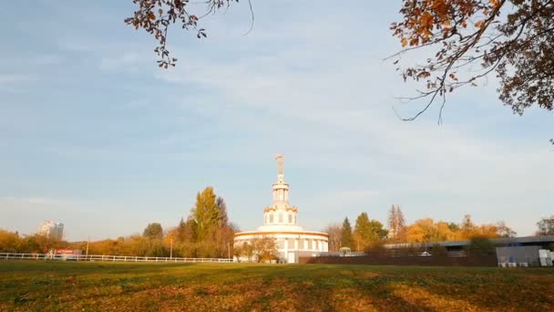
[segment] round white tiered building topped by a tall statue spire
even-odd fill
[[[277,241],[279,258],[286,263],[298,263],[299,256],[313,256],[329,250],[329,235],[304,231],[297,225],[298,208],[289,204],[289,184],[282,174],[282,155],[275,158],[279,163],[277,182],[273,183],[273,203],[263,209],[263,225],[258,231],[235,234],[234,244],[250,243],[254,238],[272,237]],[[248,260],[241,256],[242,260]]]

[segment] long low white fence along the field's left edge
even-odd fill
[[[175,263],[231,263],[229,258],[177,258],[169,256],[130,255],[51,255],[0,253],[0,260],[61,260],[61,261],[111,261],[111,262],[175,262]]]

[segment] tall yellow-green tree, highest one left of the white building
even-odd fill
[[[196,203],[190,211],[190,217],[195,223],[193,229],[197,242],[211,238],[211,234],[221,226],[221,213],[215,199],[216,195],[211,186],[196,195]]]

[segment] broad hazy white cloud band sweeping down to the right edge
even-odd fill
[[[360,192],[351,182],[350,191],[304,197],[310,208],[303,218],[313,220],[318,215],[314,207],[336,211],[347,198],[353,212],[379,209],[373,214],[385,221],[385,210],[401,199],[412,220],[434,216],[458,221],[472,213],[487,222],[513,221],[510,225],[520,234],[531,234],[535,224],[529,220],[539,216],[518,222],[517,215],[526,208],[545,211],[554,202],[547,173],[553,168],[551,155],[540,147],[518,151],[509,140],[484,137],[471,129],[473,120],[467,126],[442,127],[434,116],[430,122],[425,116],[399,121],[391,107],[406,86],[395,75],[390,65],[363,51],[337,57],[334,49],[301,45],[227,61],[194,58],[157,78],[210,90],[209,96],[188,95],[184,102],[202,103],[202,111],[232,129],[265,138],[255,146],[235,146],[228,158],[252,159],[285,149],[301,158],[292,159],[296,166],[355,172],[374,184]],[[494,92],[480,94],[496,100]],[[460,99],[471,100],[464,93]],[[456,104],[456,98],[449,103]],[[370,203],[377,207],[362,206]]]

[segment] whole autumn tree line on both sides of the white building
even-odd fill
[[[536,235],[554,235],[554,215],[537,223]],[[93,242],[67,242],[45,235],[22,235],[0,229],[0,252],[45,253],[54,249],[80,249],[89,255],[175,256],[175,257],[231,257],[274,259],[277,246],[274,239],[259,237],[251,244],[233,246],[233,237],[239,229],[227,214],[227,205],[212,187],[198,192],[189,216],[181,218],[177,226],[164,231],[161,224],[151,223],[142,234]],[[362,252],[381,244],[434,243],[440,241],[478,240],[511,237],[516,233],[504,222],[475,224],[469,214],[460,223],[435,221],[432,218],[405,223],[400,206],[393,205],[388,213],[386,227],[360,213],[354,228],[348,217],[343,224],[329,224],[323,229],[329,234],[329,250],[349,247]]]

